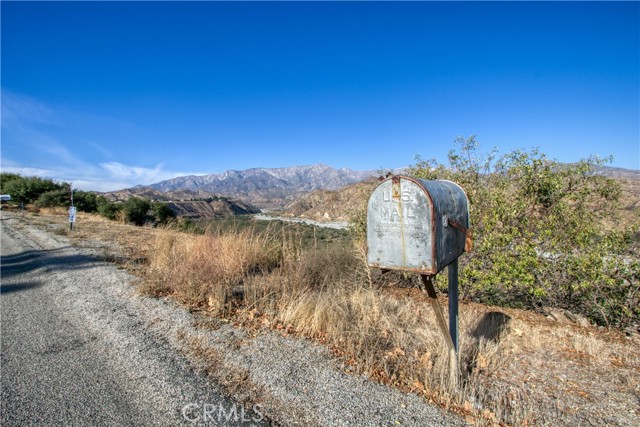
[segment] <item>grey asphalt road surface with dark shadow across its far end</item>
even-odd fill
[[[247,411],[243,420],[241,405],[137,317],[124,272],[19,222],[3,213],[0,424],[194,425],[206,418],[207,425],[252,425],[261,418]]]

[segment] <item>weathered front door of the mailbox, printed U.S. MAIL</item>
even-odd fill
[[[419,180],[382,181],[367,204],[367,261],[373,267],[435,274],[433,205]]]

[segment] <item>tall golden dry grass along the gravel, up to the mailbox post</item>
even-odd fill
[[[472,390],[472,373],[493,368],[503,357],[501,318],[463,317],[465,381],[462,390],[453,390],[446,343],[431,307],[370,286],[355,248],[302,250],[294,236],[251,229],[202,236],[162,230],[149,259],[148,292],[173,295],[215,315],[266,318],[271,326],[329,345],[350,371],[447,406],[464,408],[466,398],[477,400],[481,393]],[[477,412],[477,406],[468,411]],[[501,416],[513,418],[511,412]]]

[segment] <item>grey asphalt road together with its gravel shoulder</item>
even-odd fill
[[[464,425],[345,374],[318,344],[207,326],[139,295],[137,279],[95,250],[1,215],[3,425],[251,425],[263,415],[292,426]],[[239,408],[250,413],[225,417]]]

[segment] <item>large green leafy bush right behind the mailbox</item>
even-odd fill
[[[620,185],[596,173],[610,161],[574,164],[534,149],[478,153],[457,141],[448,165],[417,159],[409,174],[449,179],[470,201],[474,250],[461,258],[460,286],[472,300],[520,308],[566,308],[598,324],[640,319],[638,224],[616,220]]]

